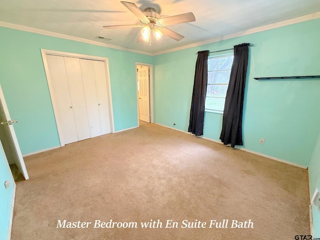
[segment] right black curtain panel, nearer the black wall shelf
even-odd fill
[[[226,91],[220,139],[223,144],[243,145],[242,109],[249,43],[234,46],[229,86]]]

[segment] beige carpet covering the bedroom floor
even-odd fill
[[[71,143],[25,163],[30,179],[16,185],[12,240],[273,240],[310,232],[307,170],[156,124]],[[94,228],[95,220],[110,219],[122,228]],[[141,227],[151,219],[162,228]],[[227,228],[209,228],[223,219]],[[249,219],[253,228],[231,228],[232,220]],[[91,224],[56,228],[57,220]],[[167,220],[178,228],[165,228]],[[186,221],[206,225],[182,228]],[[137,228],[123,228],[134,226],[125,222]]]

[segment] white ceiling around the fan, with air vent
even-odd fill
[[[130,1],[130,0],[128,0]],[[195,22],[167,28],[185,37],[175,41],[163,36],[159,41],[137,43],[141,28],[104,29],[103,25],[139,24],[120,0],[2,0],[0,21],[46,31],[95,39],[111,38],[108,44],[156,53],[175,47],[251,29],[258,26],[320,11],[319,0],[134,0],[140,9],[160,8],[162,17],[193,12]]]

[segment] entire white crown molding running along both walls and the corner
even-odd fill
[[[303,15],[303,16],[299,16],[299,17],[290,18],[290,19],[283,20],[283,21],[278,21],[278,22],[267,24],[264,26],[251,28],[251,29],[244,30],[244,31],[235,32],[235,33],[224,35],[224,36],[211,38],[211,39],[208,39],[205,41],[199,41],[199,42],[187,44],[187,45],[180,46],[180,47],[171,48],[171,49],[164,50],[164,51],[158,51],[155,53],[139,51],[139,50],[135,50],[132,48],[117,46],[117,45],[103,43],[103,42],[97,42],[97,41],[93,41],[93,40],[84,39],[81,37],[69,36],[69,35],[65,35],[65,34],[61,34],[61,33],[41,30],[41,29],[37,29],[37,28],[33,28],[33,27],[22,26],[22,25],[8,23],[8,22],[4,22],[4,21],[0,21],[0,26],[12,28],[12,29],[17,29],[17,30],[22,30],[22,31],[28,31],[28,32],[32,32],[32,33],[38,33],[38,34],[47,35],[47,36],[59,37],[59,38],[67,39],[67,40],[84,42],[84,43],[98,45],[98,46],[114,48],[114,49],[118,49],[118,50],[140,53],[140,54],[149,55],[149,56],[155,56],[155,55],[160,55],[160,54],[164,54],[164,53],[168,53],[168,52],[172,52],[172,51],[178,51],[178,50],[183,50],[186,48],[191,48],[191,47],[209,44],[209,43],[213,43],[213,42],[217,42],[217,41],[222,41],[222,40],[226,40],[226,39],[230,39],[230,38],[234,38],[234,37],[238,37],[238,36],[244,36],[244,35],[260,32],[260,31],[266,31],[266,30],[270,30],[270,29],[274,29],[274,28],[278,28],[278,27],[282,27],[282,26],[287,26],[287,25],[291,25],[291,24],[299,23],[299,22],[303,22],[303,21],[308,21],[308,20],[312,20],[312,19],[316,19],[316,18],[320,18],[320,11],[310,13],[307,15]]]

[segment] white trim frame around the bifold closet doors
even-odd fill
[[[92,56],[92,55],[85,55],[85,54],[80,54],[80,53],[56,51],[56,50],[42,49],[42,48],[41,48],[41,55],[42,55],[46,80],[47,80],[48,87],[49,87],[49,93],[50,93],[50,97],[51,97],[53,113],[54,113],[56,127],[57,127],[57,131],[58,131],[58,135],[59,135],[60,145],[64,146],[65,142],[64,142],[64,138],[63,138],[63,132],[62,132],[61,122],[60,122],[60,118],[59,118],[59,112],[58,112],[57,104],[55,102],[52,79],[50,76],[50,70],[49,70],[49,65],[47,62],[46,55],[66,56],[66,57],[75,57],[75,58],[84,58],[84,59],[89,59],[89,60],[104,61],[105,75],[107,78],[106,79],[106,88],[107,88],[107,92],[108,92],[111,133],[113,133],[114,132],[114,119],[113,119],[113,109],[112,109],[112,97],[111,97],[111,85],[110,85],[110,73],[109,73],[109,60],[108,60],[108,58],[102,57],[102,56]]]

